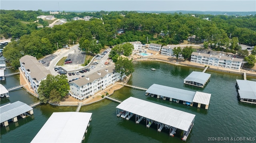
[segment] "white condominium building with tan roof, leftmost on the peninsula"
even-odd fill
[[[39,63],[36,57],[30,55],[20,58],[20,69],[30,83],[30,88],[34,90],[35,94],[38,94],[37,91],[40,82],[46,79],[50,71],[42,63]]]

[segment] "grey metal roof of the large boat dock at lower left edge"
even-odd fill
[[[16,101],[14,103],[1,106],[0,123],[7,121],[8,119],[12,119],[16,116],[19,116],[20,114],[26,113],[30,110],[33,110],[33,108],[20,101]]]

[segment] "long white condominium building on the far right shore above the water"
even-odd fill
[[[191,54],[190,62],[234,70],[239,70],[241,68],[243,59],[227,57],[226,55],[223,55],[212,55],[206,53],[193,52]]]

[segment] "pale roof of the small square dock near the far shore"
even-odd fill
[[[208,73],[193,71],[184,80],[204,84],[210,76],[211,74]]]

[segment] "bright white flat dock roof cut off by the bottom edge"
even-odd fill
[[[31,143],[81,143],[92,113],[54,112]]]

